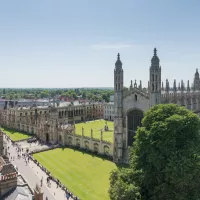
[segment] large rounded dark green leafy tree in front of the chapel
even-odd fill
[[[200,199],[199,130],[200,118],[184,107],[151,108],[137,129],[130,155],[131,181],[125,178],[124,184],[138,187],[143,200]]]

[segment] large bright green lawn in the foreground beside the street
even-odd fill
[[[117,166],[69,148],[33,154],[41,165],[83,200],[108,200],[109,176]]]

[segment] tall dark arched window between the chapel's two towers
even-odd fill
[[[127,113],[127,143],[128,146],[132,146],[134,141],[135,132],[137,130],[137,127],[141,126],[141,121],[144,114],[143,111],[139,109],[131,109]]]

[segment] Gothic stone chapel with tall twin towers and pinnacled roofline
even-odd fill
[[[177,88],[176,80],[170,88],[168,79],[164,88],[161,85],[161,66],[154,48],[154,55],[149,68],[148,88],[142,87],[135,80],[131,80],[129,88],[124,87],[124,72],[120,55],[114,69],[114,145],[113,158],[115,162],[128,163],[128,147],[133,144],[133,136],[137,127],[141,125],[144,112],[150,107],[160,103],[175,103],[185,106],[200,114],[200,78],[198,70],[194,76],[193,86],[190,88],[189,81],[185,87],[183,80]]]

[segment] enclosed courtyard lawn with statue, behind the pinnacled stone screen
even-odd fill
[[[104,126],[107,122],[109,131],[104,131]],[[76,134],[82,134],[82,127],[84,128],[84,135],[90,137],[91,128],[93,129],[93,137],[100,139],[101,129],[103,129],[103,140],[113,142],[113,130],[114,130],[114,123],[111,121],[105,120],[96,120],[90,121],[86,123],[78,123],[75,125],[76,127]]]

